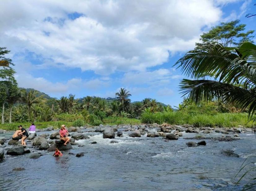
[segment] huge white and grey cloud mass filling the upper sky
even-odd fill
[[[68,19],[73,12],[84,16]],[[0,43],[101,75],[145,71],[193,49],[221,15],[212,0],[0,1]]]

